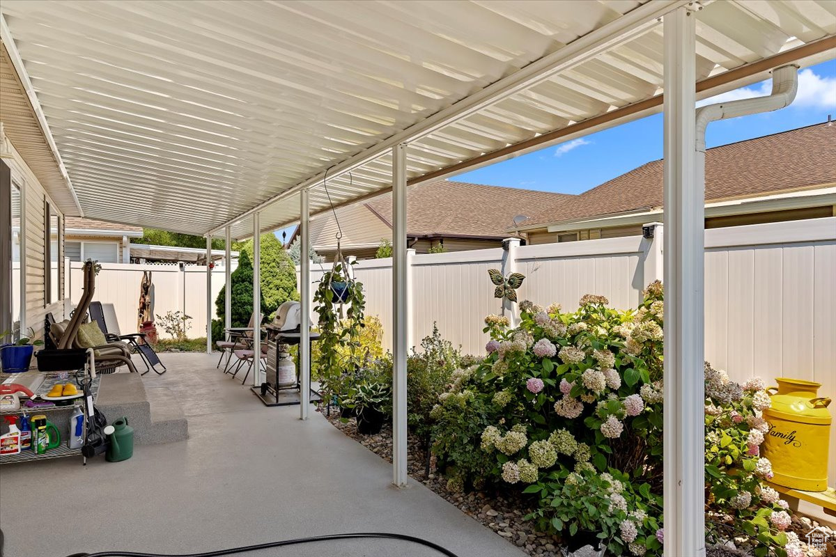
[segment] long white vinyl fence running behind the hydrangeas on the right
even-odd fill
[[[430,334],[463,352],[482,354],[483,319],[501,313],[487,270],[522,272],[520,300],[574,311],[584,294],[607,296],[620,309],[635,307],[641,291],[662,279],[664,230],[641,236],[538,246],[411,255],[410,346]],[[511,255],[512,254],[512,255]],[[359,261],[366,314],[383,322],[391,347],[391,259]],[[312,265],[319,281],[329,264]],[[315,286],[314,286],[315,289]],[[312,289],[313,290],[313,289]],[[732,379],[754,375],[822,383],[836,398],[836,218],[796,220],[706,230],[706,360]],[[314,322],[315,316],[314,316]],[[836,450],[836,428],[830,446]],[[836,478],[836,458],[830,477]]]

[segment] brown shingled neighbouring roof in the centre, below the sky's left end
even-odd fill
[[[406,192],[406,234],[410,236],[504,237],[515,216],[574,197],[452,180],[432,180],[410,186]],[[391,227],[391,193],[365,205]]]

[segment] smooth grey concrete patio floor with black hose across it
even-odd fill
[[[391,466],[319,413],[266,408],[216,356],[164,354],[149,391],[181,398],[190,438],[138,446],[121,463],[60,458],[0,468],[8,557],[121,550],[196,553],[319,534],[393,532],[460,557],[524,555],[422,484],[390,484]],[[239,377],[242,374],[239,374]],[[247,553],[257,557],[435,557],[389,540],[345,540]]]

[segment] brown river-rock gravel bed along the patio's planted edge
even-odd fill
[[[339,412],[334,411],[334,408],[331,408],[330,416],[324,412],[324,409],[320,408],[320,411],[335,428],[353,438],[380,458],[385,459],[386,462],[392,462],[391,424],[385,424],[380,433],[376,435],[360,435],[357,433],[357,425],[353,419],[345,423],[342,422],[339,419]],[[485,527],[492,529],[512,544],[523,549],[527,554],[538,557],[565,557],[566,553],[561,547],[558,536],[538,533],[534,530],[531,522],[523,520],[523,516],[532,510],[523,499],[509,498],[487,491],[477,491],[469,494],[452,493],[446,488],[446,480],[436,472],[435,458],[431,458],[430,473],[429,476],[426,475],[426,450],[421,443],[421,439],[410,433],[407,443],[406,463],[412,479],[426,485],[436,494],[456,505],[463,513],[478,520]],[[798,538],[804,542],[807,539],[805,534],[810,529],[818,526],[818,522],[806,516],[793,515],[793,524],[789,529],[798,534]],[[836,542],[836,533],[826,526],[824,528],[830,534],[828,548],[821,551],[803,544],[805,557],[836,557],[836,549],[833,549],[833,542]],[[747,555],[752,555],[751,551],[737,549],[733,541],[726,545],[716,544],[706,547],[706,557],[741,557]]]

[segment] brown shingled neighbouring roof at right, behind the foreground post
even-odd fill
[[[641,165],[581,195],[534,212],[518,228],[660,207],[663,172],[663,160]],[[830,123],[706,151],[706,202],[818,188],[834,182],[836,125]]]

